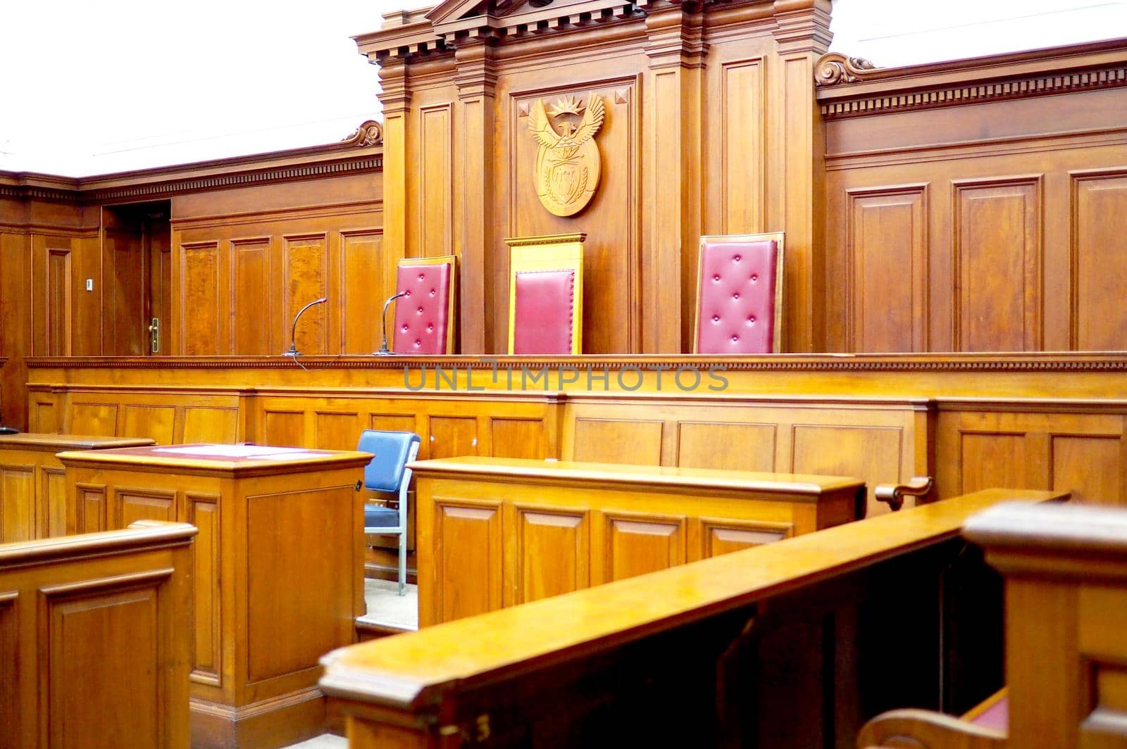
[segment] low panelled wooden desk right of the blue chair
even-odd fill
[[[419,625],[857,519],[833,476],[458,457],[419,461]]]

